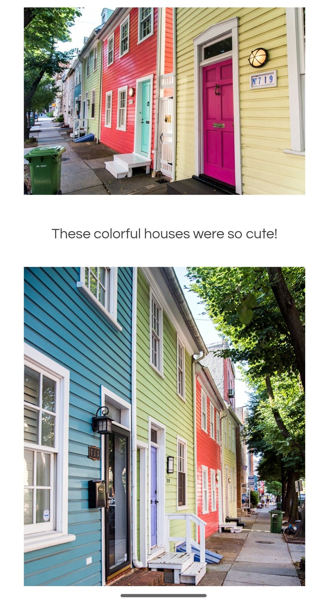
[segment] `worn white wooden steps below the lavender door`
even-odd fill
[[[193,552],[163,552],[148,561],[148,567],[157,569],[173,569],[174,584],[197,585],[205,575],[205,563],[194,563]]]

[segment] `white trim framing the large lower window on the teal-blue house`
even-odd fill
[[[56,464],[56,528],[42,534],[28,534],[24,538],[24,552],[37,551],[41,548],[64,544],[76,539],[74,534],[68,534],[68,428],[69,428],[69,380],[67,368],[40,353],[28,344],[24,345],[24,359],[27,364],[41,367],[58,379],[58,416],[57,437],[58,448]]]

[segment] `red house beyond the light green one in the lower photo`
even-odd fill
[[[197,515],[206,522],[205,537],[222,523],[221,427],[225,410],[210,370],[196,364]]]

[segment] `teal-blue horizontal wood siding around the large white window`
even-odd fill
[[[76,287],[79,268],[25,269],[25,342],[70,370],[67,545],[25,554],[25,585],[101,584],[101,510],[88,509],[88,480],[101,476],[88,445],[101,385],[131,402],[132,269],[120,267],[117,332]],[[86,557],[92,563],[86,566]]]

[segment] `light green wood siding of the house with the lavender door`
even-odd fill
[[[166,427],[166,457],[174,456],[174,473],[165,484],[165,512],[176,512],[177,435],[187,441],[187,505],[181,512],[194,512],[194,452],[191,357],[185,351],[185,399],[176,393],[176,330],[163,313],[163,373],[161,378],[149,364],[150,290],[143,273],[137,280],[137,439],[148,442],[148,416]],[[165,475],[166,477],[166,475]],[[170,523],[170,535],[185,535],[185,521]],[[172,543],[173,544],[173,543]],[[173,548],[173,546],[171,546]]]

